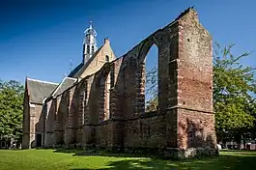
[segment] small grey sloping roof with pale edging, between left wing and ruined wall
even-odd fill
[[[66,91],[68,88],[70,88],[75,82],[77,81],[76,78],[71,77],[65,77],[62,82],[52,91],[52,93],[49,95],[50,97],[57,97],[61,95],[64,91]]]

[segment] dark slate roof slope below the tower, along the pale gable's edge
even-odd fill
[[[102,48],[102,46],[100,46],[100,48],[95,51],[95,53],[93,54],[93,56],[86,62],[85,65],[83,65],[83,63],[80,63],[76,68],[74,68],[71,73],[69,74],[69,77],[79,77],[79,74],[81,74],[83,71],[86,70],[86,68],[92,63],[92,61],[94,60],[94,58],[98,55],[98,53],[100,52],[100,49]]]

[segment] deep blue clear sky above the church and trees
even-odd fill
[[[117,56],[194,6],[213,42],[235,42],[235,54],[256,66],[256,1],[213,0],[6,0],[0,4],[0,79],[25,76],[59,82],[82,61],[83,31],[90,20],[98,44],[108,37]],[[153,65],[156,60],[148,60]]]

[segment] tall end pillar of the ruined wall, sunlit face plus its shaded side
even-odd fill
[[[212,38],[194,10],[185,13],[169,35],[166,147],[183,158],[216,155]]]

